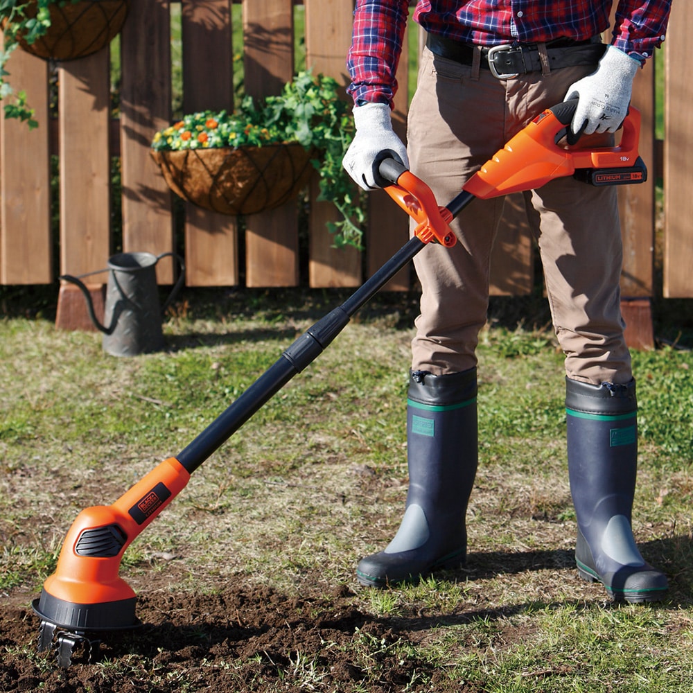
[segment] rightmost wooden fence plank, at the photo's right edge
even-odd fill
[[[693,297],[693,141],[691,78],[681,69],[693,32],[693,15],[688,6],[674,3],[667,31],[667,87],[665,160],[665,246],[664,295]]]

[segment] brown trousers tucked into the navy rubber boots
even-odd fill
[[[568,67],[498,80],[489,70],[425,49],[407,132],[412,172],[430,185],[439,204],[446,204],[518,130],[546,107],[561,103],[568,87],[594,69]],[[592,137],[592,145],[612,141],[611,135]],[[563,177],[525,198],[566,374],[595,385],[628,383],[631,360],[620,313],[622,241],[615,188]],[[412,369],[443,375],[476,365],[478,333],[488,308],[489,258],[502,207],[503,198],[474,200],[451,224],[458,238],[455,247],[430,244],[416,256],[423,293]]]

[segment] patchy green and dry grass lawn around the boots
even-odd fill
[[[189,291],[164,324],[170,351],[132,359],[106,355],[96,333],[58,332],[44,318],[0,320],[0,591],[38,590],[80,509],[112,502],[182,450],[340,298],[274,293]],[[385,297],[365,308],[214,453],[166,522],[126,552],[128,581],[166,579],[168,564],[156,556],[170,555],[179,556],[172,588],[191,595],[230,579],[288,593],[315,574],[353,585],[356,561],[389,541],[403,507],[414,305]],[[672,591],[660,606],[611,607],[571,567],[563,357],[551,333],[505,324],[489,324],[480,340],[468,579],[441,574],[356,592],[361,611],[398,628],[416,624],[419,634],[355,633],[363,690],[389,662],[409,672],[402,690],[441,681],[503,693],[686,690],[693,354],[633,355],[641,449],[634,529]],[[523,556],[538,565],[521,567]],[[151,685],[164,681],[155,663],[136,659],[105,663],[103,676],[116,680],[130,667]],[[315,652],[293,651],[280,668],[287,685],[327,685]]]

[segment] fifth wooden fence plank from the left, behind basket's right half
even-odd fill
[[[292,0],[243,0],[245,93],[279,94],[294,75]],[[297,202],[252,214],[245,220],[246,286],[299,283]]]

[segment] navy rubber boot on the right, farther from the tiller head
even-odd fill
[[[601,582],[615,601],[656,602],[667,590],[667,577],[644,561],[631,529],[638,464],[635,380],[565,383],[577,570]]]

